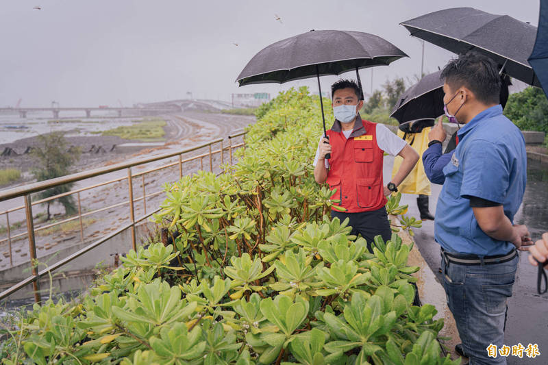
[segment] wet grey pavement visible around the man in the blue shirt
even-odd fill
[[[393,158],[384,160],[384,177],[390,179]],[[440,185],[432,184],[430,212],[436,212],[436,201],[441,191]],[[402,203],[409,204],[411,216],[419,217],[416,195],[403,194]],[[542,232],[548,231],[548,166],[529,162],[527,165],[527,187],[521,208],[514,219],[516,224],[525,224],[532,238],[538,240]],[[437,276],[440,267],[440,247],[434,241],[434,222],[426,221],[421,229],[415,230],[415,242],[427,264]],[[514,294],[508,301],[508,321],[506,323],[505,344],[512,347],[521,343],[538,344],[540,356],[534,359],[523,355],[523,359],[510,356],[508,364],[548,364],[548,293],[536,292],[537,268],[529,264],[527,253],[522,253]]]

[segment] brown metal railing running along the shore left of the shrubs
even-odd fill
[[[140,159],[140,160],[132,160],[132,161],[129,161],[129,162],[114,164],[114,165],[108,166],[108,167],[96,168],[94,170],[83,171],[81,173],[75,173],[75,174],[66,175],[66,176],[63,176],[63,177],[58,177],[58,178],[55,178],[55,179],[40,181],[40,182],[37,182],[37,183],[34,183],[34,184],[27,184],[26,186],[12,188],[10,190],[4,190],[3,192],[0,192],[0,201],[4,201],[4,200],[8,200],[8,199],[14,199],[16,197],[25,197],[25,205],[24,206],[11,208],[10,210],[5,210],[3,212],[0,212],[0,215],[5,214],[6,220],[8,221],[8,238],[0,240],[0,242],[5,242],[5,241],[9,242],[9,246],[10,246],[10,263],[12,263],[12,245],[11,245],[12,238],[19,238],[21,236],[28,236],[28,239],[29,239],[29,253],[30,253],[30,259],[31,259],[31,263],[32,263],[32,276],[28,277],[27,279],[24,279],[23,281],[20,281],[18,284],[15,284],[14,286],[8,288],[8,290],[5,290],[5,291],[1,292],[0,293],[0,300],[5,298],[5,297],[8,297],[10,294],[13,294],[17,290],[20,290],[21,288],[25,287],[26,285],[32,283],[33,286],[34,286],[35,301],[39,302],[40,301],[40,294],[38,293],[38,290],[39,290],[38,279],[40,277],[42,277],[43,275],[46,275],[47,273],[51,272],[52,270],[55,270],[56,268],[60,268],[61,266],[63,266],[64,264],[66,264],[68,262],[71,262],[76,257],[79,257],[80,255],[83,255],[84,253],[90,251],[91,249],[94,249],[95,247],[99,246],[101,243],[105,242],[106,240],[109,240],[110,238],[112,238],[112,237],[116,236],[117,234],[121,233],[122,231],[125,231],[125,229],[128,229],[128,228],[132,229],[132,243],[133,243],[133,248],[136,249],[136,234],[135,234],[135,225],[136,225],[136,223],[144,220],[145,218],[151,216],[152,214],[154,214],[155,212],[158,212],[160,210],[160,209],[157,209],[157,210],[154,210],[153,212],[149,212],[147,214],[146,199],[148,197],[153,197],[155,195],[161,194],[163,192],[163,190],[160,190],[158,192],[153,192],[153,193],[147,194],[145,192],[145,174],[151,173],[151,172],[154,172],[154,171],[159,171],[163,168],[168,168],[170,166],[175,166],[175,165],[178,164],[179,165],[179,176],[182,177],[182,164],[184,162],[190,162],[190,161],[199,159],[201,168],[203,168],[203,158],[206,157],[206,156],[209,156],[210,171],[213,171],[212,156],[216,153],[221,153],[221,164],[224,164],[224,157],[225,157],[224,153],[225,153],[226,150],[229,150],[230,163],[232,164],[232,149],[237,148],[237,147],[242,147],[242,146],[245,148],[245,141],[243,141],[241,143],[238,143],[238,144],[232,144],[232,138],[236,138],[238,136],[244,136],[245,134],[247,134],[247,131],[242,131],[240,133],[236,133],[236,134],[232,134],[232,135],[227,136],[229,138],[229,146],[228,147],[223,147],[223,138],[217,138],[216,140],[212,140],[210,142],[199,144],[195,147],[190,147],[188,149],[184,149],[184,150],[181,150],[181,151],[175,151],[175,152],[171,152],[171,153],[165,153],[163,155],[151,156],[149,158],[144,158],[144,159]],[[221,143],[221,148],[216,149],[216,150],[212,150],[212,144],[219,143],[219,142]],[[202,149],[204,147],[209,148],[208,153],[203,153],[201,155],[196,155],[196,156],[193,156],[191,158],[187,158],[185,160],[182,159],[182,154],[192,152],[192,151],[197,151],[198,149]],[[133,166],[147,164],[149,162],[155,162],[155,161],[164,160],[164,159],[167,159],[167,158],[173,158],[173,157],[176,157],[176,156],[178,156],[178,158],[179,158],[177,162],[171,162],[171,163],[166,164],[166,165],[151,168],[147,171],[141,171],[140,173],[132,174],[132,167]],[[41,190],[47,190],[47,189],[52,188],[54,186],[58,186],[58,185],[62,185],[62,184],[69,184],[69,183],[72,183],[72,182],[75,182],[75,181],[88,179],[90,177],[96,177],[96,176],[104,175],[104,174],[107,174],[107,173],[121,171],[124,168],[127,169],[127,176],[125,176],[125,177],[119,177],[119,178],[116,178],[116,179],[111,179],[109,181],[103,181],[99,184],[94,184],[92,186],[86,186],[84,188],[78,188],[76,190],[71,190],[69,192],[64,192],[62,194],[55,195],[54,197],[48,197],[46,199],[40,199],[39,201],[32,202],[31,199],[30,199],[30,196],[33,192],[38,192],[38,191],[41,191]],[[139,176],[142,177],[142,193],[143,194],[142,194],[142,197],[134,198],[132,180],[136,177],[139,177]],[[108,207],[101,207],[99,209],[92,210],[90,212],[86,212],[86,213],[82,212],[82,207],[81,207],[81,204],[80,204],[80,194],[79,194],[80,192],[82,192],[84,190],[90,190],[92,188],[97,188],[99,186],[104,186],[104,185],[107,185],[107,184],[112,184],[112,183],[115,183],[115,182],[123,181],[125,179],[127,179],[128,183],[129,183],[128,184],[129,200],[125,200],[125,201],[122,201],[121,203],[116,203],[114,205],[109,205]],[[67,218],[67,219],[64,219],[63,221],[56,222],[56,223],[53,223],[53,224],[44,225],[42,227],[37,227],[36,229],[34,228],[34,219],[32,218],[32,205],[36,205],[36,204],[39,204],[39,203],[45,203],[47,201],[53,201],[53,200],[58,199],[60,197],[64,197],[64,196],[71,195],[71,194],[77,194],[78,195],[78,216]],[[136,219],[134,217],[134,203],[137,202],[137,201],[141,201],[141,200],[143,201],[143,205],[144,205],[144,208],[145,208],[145,215]],[[60,260],[59,262],[53,264],[52,266],[49,266],[47,269],[38,271],[38,268],[36,267],[36,264],[34,264],[35,263],[34,260],[36,260],[36,242],[35,242],[35,239],[34,239],[34,232],[35,231],[40,231],[42,229],[47,229],[47,228],[53,227],[55,225],[61,225],[63,223],[68,223],[70,221],[75,221],[75,220],[79,219],[79,221],[80,221],[80,234],[82,236],[82,242],[84,242],[84,231],[83,231],[83,227],[82,227],[82,217],[88,216],[88,215],[91,215],[91,214],[94,214],[94,213],[97,213],[97,212],[101,212],[101,211],[104,211],[104,210],[109,210],[109,209],[112,209],[112,207],[117,207],[117,206],[120,206],[120,205],[126,205],[128,203],[129,203],[129,213],[130,213],[130,218],[131,218],[131,221],[129,223],[127,223],[123,227],[117,229],[116,231],[112,232],[111,234],[108,234],[107,236],[105,236],[103,238],[100,238],[99,240],[96,240],[92,244],[89,244],[88,246],[84,247],[83,249],[80,249],[76,253],[73,253],[72,255],[69,255],[69,257],[66,257],[63,260]],[[10,222],[9,222],[8,214],[10,212],[14,212],[16,210],[21,210],[21,209],[25,209],[25,215],[27,217],[27,219],[26,219],[26,221],[27,221],[27,232],[25,232],[23,234],[17,234],[15,236],[11,236],[11,234],[10,234]]]

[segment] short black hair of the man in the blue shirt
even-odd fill
[[[443,68],[440,79],[453,90],[465,86],[482,103],[500,102],[501,77],[497,63],[474,51],[453,58]]]

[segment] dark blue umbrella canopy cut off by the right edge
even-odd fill
[[[548,0],[540,0],[538,32],[529,63],[533,66],[546,97],[548,97]]]

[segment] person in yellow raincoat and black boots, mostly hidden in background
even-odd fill
[[[434,125],[434,120],[432,119],[402,123],[399,126],[398,137],[408,142],[419,153],[419,156],[422,156],[423,152],[428,148],[428,132],[432,128],[432,125]],[[398,156],[394,159],[393,177],[398,171],[401,161],[402,159]],[[419,158],[419,162],[416,163],[406,179],[401,182],[398,190],[406,194],[418,194],[419,197],[416,198],[416,205],[419,207],[419,212],[421,212],[421,219],[423,221],[434,221],[434,216],[430,214],[428,208],[429,195],[431,194],[430,181],[424,172],[422,158]]]

